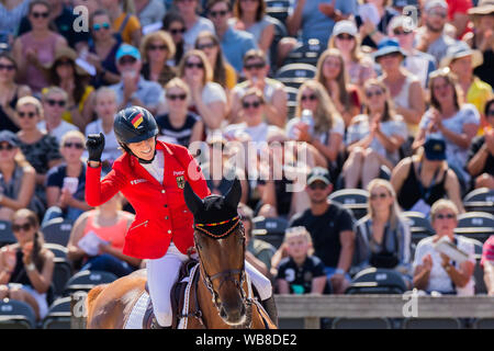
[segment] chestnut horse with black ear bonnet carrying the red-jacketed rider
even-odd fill
[[[225,196],[210,195],[201,200],[186,183],[183,195],[194,215],[194,242],[200,264],[197,298],[189,298],[192,306],[199,305],[200,313],[181,317],[187,318],[188,329],[276,328],[252,298],[244,270],[244,226],[237,213],[240,193],[240,183],[235,180]],[[87,298],[87,328],[124,328],[145,284],[146,273],[139,270],[92,288]]]

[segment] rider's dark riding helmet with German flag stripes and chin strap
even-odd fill
[[[116,114],[115,121],[113,122],[113,131],[120,146],[128,154],[134,155],[127,144],[139,143],[156,137],[158,135],[158,125],[149,111],[144,107],[132,106],[121,110]],[[142,163],[150,163],[155,159],[154,157],[151,160],[137,158]]]

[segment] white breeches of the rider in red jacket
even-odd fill
[[[153,309],[161,327],[171,326],[170,291],[178,279],[180,267],[189,258],[181,253],[173,242],[170,242],[167,253],[156,260],[147,262],[147,283]],[[272,295],[271,282],[250,263],[245,262],[245,270],[259,292],[260,298],[266,299]]]

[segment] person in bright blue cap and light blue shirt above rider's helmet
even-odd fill
[[[110,88],[116,92],[119,109],[137,105],[156,112],[165,100],[164,90],[159,83],[146,80],[141,75],[143,64],[139,50],[135,46],[122,44],[115,60],[122,79]]]

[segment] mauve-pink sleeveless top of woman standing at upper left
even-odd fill
[[[27,48],[33,48],[37,53],[37,59],[43,66],[50,64],[55,58],[55,48],[58,37],[58,34],[52,32],[46,38],[38,41],[33,37],[33,32],[23,34],[20,37],[22,43],[22,56],[26,56]],[[25,81],[23,81],[23,83],[30,86],[33,92],[40,92],[49,84],[43,72],[30,63],[26,65],[24,77]]]

